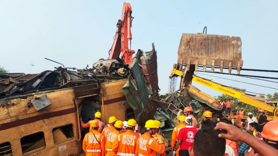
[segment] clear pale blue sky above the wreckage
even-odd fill
[[[1,0],[0,66],[11,73],[40,73],[59,66],[45,57],[76,68],[84,68],[87,64],[91,67],[98,59],[107,59],[123,2]],[[172,65],[177,62],[182,33],[203,32],[205,26],[207,34],[241,37],[243,68],[278,70],[277,0],[126,2],[131,4],[134,17],[131,48],[135,52],[138,49],[150,51],[152,42],[155,43],[160,94],[168,90],[168,77]],[[278,88],[278,83],[205,74]],[[241,71],[241,74],[278,77],[277,73],[265,72]],[[250,92],[278,92],[197,75]],[[192,84],[212,96],[221,95],[205,86]]]

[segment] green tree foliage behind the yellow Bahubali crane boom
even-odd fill
[[[246,91],[245,89],[240,89],[240,88],[234,88],[236,90],[239,90],[239,91]],[[234,97],[231,97],[229,95],[226,95],[226,94],[222,94],[222,95],[218,95],[217,97],[218,100],[229,100],[231,99],[231,102],[232,102],[232,109],[238,107],[238,111],[240,108],[243,108],[244,110],[244,115],[247,115],[248,112],[252,112],[254,114],[254,116],[258,115],[258,108],[257,107],[254,107],[254,106],[251,106],[249,104],[246,104],[246,103],[243,103],[243,102],[240,102],[237,98],[234,98]]]

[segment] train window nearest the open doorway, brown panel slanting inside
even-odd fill
[[[52,129],[54,144],[60,144],[73,139],[73,125],[65,125]]]

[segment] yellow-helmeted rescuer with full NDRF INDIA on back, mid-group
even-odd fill
[[[127,131],[120,133],[112,145],[112,150],[116,155],[135,156],[135,148],[138,140],[137,135],[133,132],[136,126],[134,119],[127,121]]]

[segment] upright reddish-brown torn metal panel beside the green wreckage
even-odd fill
[[[157,55],[154,44],[152,44],[152,51],[143,52],[139,50],[137,55],[138,63],[141,65],[143,76],[147,80],[147,85],[151,86],[152,94],[155,94],[152,99],[158,100]]]

